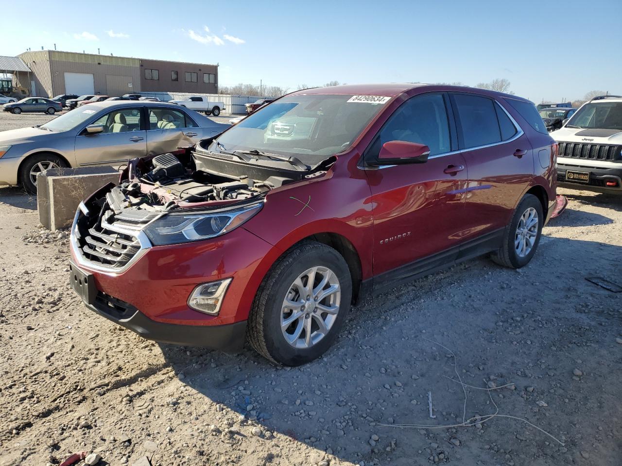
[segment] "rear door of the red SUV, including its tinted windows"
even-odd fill
[[[463,240],[505,227],[534,173],[532,147],[495,99],[450,93],[458,142],[469,167]]]

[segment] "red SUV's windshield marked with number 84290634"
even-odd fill
[[[209,150],[259,150],[295,155],[314,166],[343,152],[383,108],[351,95],[292,95],[261,107],[213,142]]]

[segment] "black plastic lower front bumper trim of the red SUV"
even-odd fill
[[[141,311],[129,313],[129,317],[122,318],[111,315],[106,306],[87,304],[85,306],[100,316],[136,332],[147,340],[184,346],[200,346],[226,352],[239,352],[244,347],[246,336],[246,321],[219,326],[192,326],[169,324],[149,319]]]

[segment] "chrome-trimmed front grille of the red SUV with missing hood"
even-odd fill
[[[113,217],[113,211],[104,211],[81,238],[80,249],[90,262],[119,269],[127,265],[137,254],[141,244],[131,231],[119,232],[119,229],[114,227]]]

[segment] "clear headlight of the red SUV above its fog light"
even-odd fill
[[[261,210],[263,203],[243,209],[204,214],[174,213],[156,220],[145,230],[154,246],[200,241],[239,227]]]

